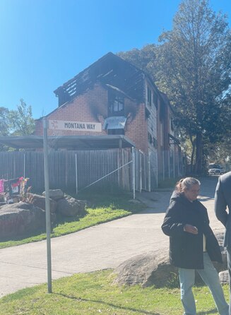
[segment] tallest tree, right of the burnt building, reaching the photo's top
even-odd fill
[[[189,136],[194,172],[201,173],[203,145],[215,143],[230,124],[231,33],[227,18],[207,0],[185,0],[173,29],[160,35],[155,57],[157,83],[170,97],[177,125]],[[225,112],[225,121],[224,119]],[[194,155],[195,152],[195,155]]]

